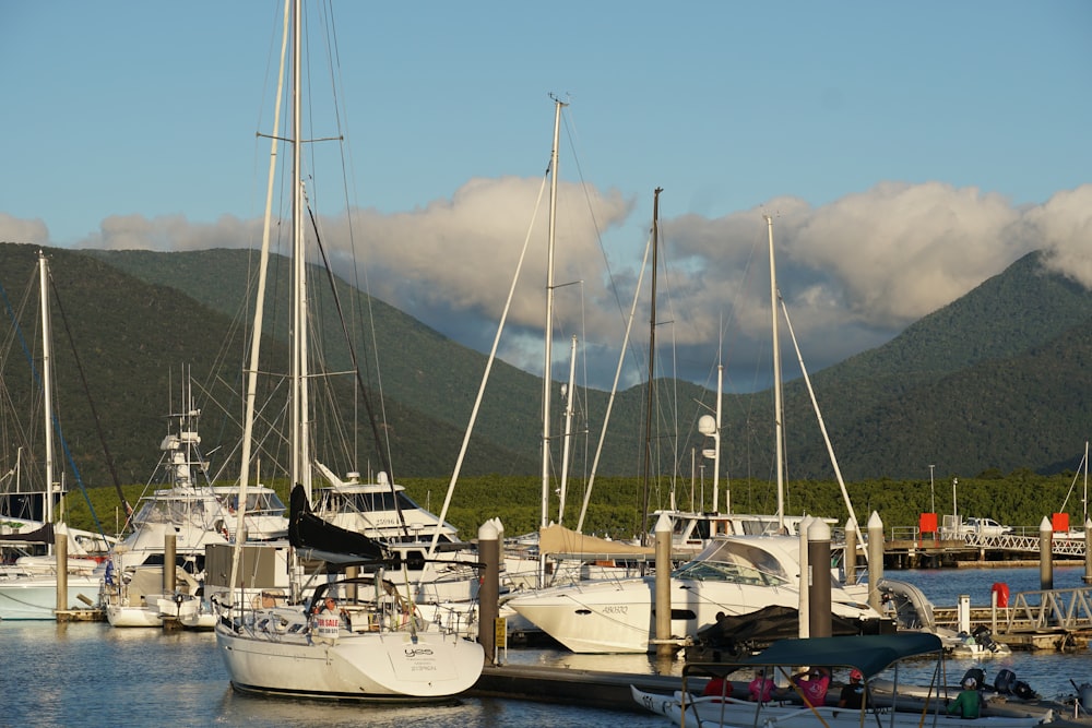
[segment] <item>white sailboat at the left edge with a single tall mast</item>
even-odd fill
[[[52,409],[52,345],[50,336],[49,263],[44,252],[38,251],[38,285],[41,299],[41,392],[44,399],[43,435],[45,440],[45,484],[41,492],[44,521],[13,520],[4,517],[7,533],[0,533],[0,545],[25,547],[34,544],[46,545],[44,556],[23,556],[13,564],[0,569],[0,619],[55,619],[56,611],[98,606],[99,568],[95,559],[82,547],[86,538],[78,539],[63,522],[55,523],[54,501],[56,498],[54,463]],[[61,493],[63,494],[63,493]],[[90,534],[81,533],[86,537]],[[58,539],[64,540],[66,561],[55,552]],[[105,544],[107,539],[94,539]],[[63,573],[63,594],[59,594],[59,576]]]

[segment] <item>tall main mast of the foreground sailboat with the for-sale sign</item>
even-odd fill
[[[304,486],[311,498],[311,468],[308,411],[310,408],[307,365],[307,256],[304,251],[304,182],[302,182],[302,12],[301,1],[293,8],[292,56],[292,240],[295,296],[293,309],[293,462],[292,481]]]

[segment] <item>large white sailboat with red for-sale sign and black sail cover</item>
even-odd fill
[[[240,692],[379,702],[446,700],[477,681],[485,661],[482,645],[420,618],[412,594],[404,589],[407,585],[399,561],[381,544],[325,523],[311,512],[310,474],[314,464],[308,444],[312,419],[306,338],[309,318],[304,276],[306,204],[300,165],[304,143],[300,128],[300,5],[299,0],[285,2],[285,39],[282,44],[283,59],[284,48],[292,39],[290,199],[293,256],[297,271],[293,291],[293,431],[289,437],[293,443],[293,480],[297,485],[289,503],[289,544],[293,547],[294,573],[301,570],[306,557],[311,563],[319,562],[327,574],[334,571],[345,571],[346,574],[331,578],[314,573],[310,594],[302,606],[266,604],[264,599],[233,599],[229,610],[216,624],[216,644],[232,685]],[[277,134],[274,133],[273,138],[275,140]],[[266,244],[263,243],[263,262],[268,260]],[[251,361],[257,359],[262,308],[259,298]],[[247,384],[240,499],[246,498],[251,467],[249,439],[254,418],[256,377],[257,367],[251,367]],[[322,547],[309,548],[316,533],[322,539]],[[241,550],[241,544],[236,541],[229,580],[233,587],[237,586],[240,575]]]

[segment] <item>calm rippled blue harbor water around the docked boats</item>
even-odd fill
[[[988,605],[990,586],[1012,594],[1040,588],[1038,569],[891,571],[890,578],[922,587],[938,606],[960,594]],[[1082,586],[1083,570],[1058,569],[1056,588]],[[523,701],[464,697],[451,705],[376,707],[321,702],[263,700],[238,695],[210,633],[116,630],[108,624],[0,622],[3,648],[0,725],[11,726],[428,726],[476,728],[495,725],[663,727],[663,717]],[[572,655],[553,649],[510,649],[508,663],[572,669],[649,673],[643,655]],[[1007,668],[1043,697],[1075,692],[1070,681],[1092,682],[1092,655],[1013,653],[983,661],[948,660],[948,682],[970,667],[992,680]],[[674,666],[681,672],[681,661]],[[901,681],[927,681],[931,665],[910,665]]]

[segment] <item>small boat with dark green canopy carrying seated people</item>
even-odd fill
[[[942,675],[940,661],[945,651],[940,640],[933,634],[885,634],[845,637],[812,637],[782,640],[758,655],[748,655],[725,663],[688,664],[682,670],[682,690],[672,695],[649,693],[631,687],[633,700],[648,711],[667,716],[673,723],[686,726],[721,726],[732,728],[753,726],[834,726],[876,725],[886,728],[917,728],[922,725],[956,728],[968,725],[959,716],[946,712],[942,699],[934,687],[925,699],[902,695],[897,691],[880,695],[871,690],[871,681],[888,668],[895,671],[892,684],[899,684],[899,663],[906,658],[935,656],[937,670]],[[822,705],[811,706],[792,691],[781,691],[780,697],[768,703],[739,700],[733,695],[692,695],[688,685],[695,679],[729,678],[737,670],[750,676],[756,669],[776,670],[787,677],[794,666],[828,666],[856,669],[868,681],[859,708],[839,707],[828,697]],[[1035,709],[1024,714],[1000,714],[987,707],[975,725],[994,728],[1030,728],[1054,718],[1053,711]]]

